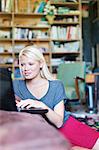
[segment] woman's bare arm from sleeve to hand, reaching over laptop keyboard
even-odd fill
[[[17,103],[18,107],[21,108],[42,108],[42,109],[48,109],[48,113],[46,113],[46,117],[49,119],[50,122],[52,122],[57,128],[60,128],[63,124],[64,119],[64,101],[60,101],[55,107],[54,110],[49,108],[47,105],[45,105],[41,101],[37,100],[21,100]]]

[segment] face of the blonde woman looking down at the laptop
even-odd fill
[[[22,55],[20,58],[20,66],[25,79],[34,79],[40,75],[42,63],[34,58]]]

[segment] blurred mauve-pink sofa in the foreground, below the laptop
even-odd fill
[[[0,149],[70,150],[70,143],[37,114],[0,110]]]

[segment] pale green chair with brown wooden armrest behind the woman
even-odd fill
[[[62,63],[58,67],[57,78],[62,80],[70,101],[85,98],[85,69],[85,62]]]

